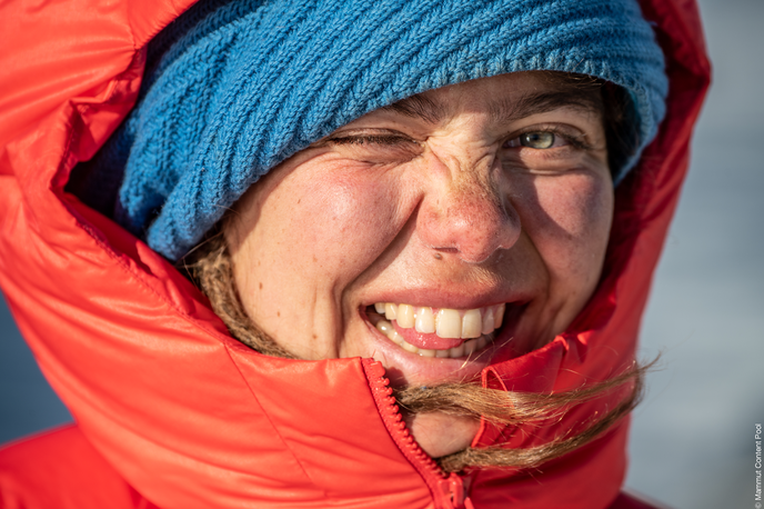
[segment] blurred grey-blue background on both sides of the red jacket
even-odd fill
[[[753,507],[764,421],[764,0],[701,0],[714,82],[642,328],[662,352],[626,486],[676,509]],[[0,443],[71,416],[0,301]]]

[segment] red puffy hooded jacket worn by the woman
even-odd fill
[[[640,508],[620,495],[627,426],[533,471],[445,477],[370,359],[263,357],[170,263],[63,188],[135,101],[147,42],[193,0],[0,3],[0,286],[77,425],[0,451],[0,507]],[[708,84],[693,0],[644,0],[667,117],[616,190],[604,276],[567,332],[484,383],[561,391],[631,365]],[[612,398],[475,446],[543,445]]]

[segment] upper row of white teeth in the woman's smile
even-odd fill
[[[395,320],[402,329],[435,333],[440,338],[480,338],[501,327],[505,305],[486,308],[458,310],[440,308],[433,312],[430,307],[378,302],[374,309],[388,320]]]

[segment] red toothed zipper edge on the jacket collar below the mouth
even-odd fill
[[[472,501],[465,493],[464,482],[456,473],[446,473],[422,450],[409,432],[403,416],[395,402],[390,380],[385,377],[384,367],[373,359],[363,359],[363,369],[369,379],[376,408],[393,441],[405,459],[422,476],[430,488],[438,509],[473,509]]]

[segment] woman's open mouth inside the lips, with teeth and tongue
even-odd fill
[[[504,309],[503,303],[456,310],[378,302],[374,305],[376,313],[368,316],[380,332],[411,353],[460,358],[482,350],[493,341],[494,331],[502,325]]]

